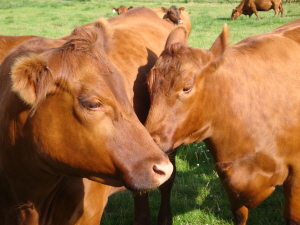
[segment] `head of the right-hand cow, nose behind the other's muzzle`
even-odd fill
[[[146,128],[164,151],[198,142],[210,132],[204,81],[218,67],[227,45],[227,26],[210,50],[186,45],[187,32],[171,32],[165,50],[148,75],[151,107]],[[209,104],[207,104],[209,105]]]

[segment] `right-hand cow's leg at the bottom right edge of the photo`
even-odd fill
[[[298,176],[299,177],[299,176]],[[300,181],[296,177],[288,177],[284,182],[284,219],[287,225],[300,225]]]

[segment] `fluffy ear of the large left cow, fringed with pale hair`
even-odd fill
[[[18,59],[12,67],[12,90],[27,104],[33,105],[42,95],[46,97],[46,83],[50,69],[39,56]]]

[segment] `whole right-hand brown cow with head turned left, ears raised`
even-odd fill
[[[300,224],[300,20],[232,47],[228,33],[209,50],[168,39],[148,77],[145,126],[164,151],[204,140],[235,224],[277,185],[286,224]]]

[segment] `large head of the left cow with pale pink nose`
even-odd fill
[[[50,173],[155,188],[173,167],[139,122],[121,72],[106,57],[106,26],[78,28],[62,47],[14,64],[13,90],[31,109],[19,142],[28,154],[34,149]]]

